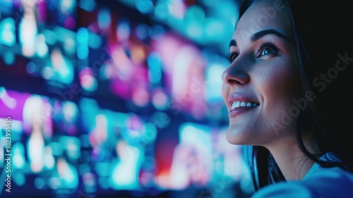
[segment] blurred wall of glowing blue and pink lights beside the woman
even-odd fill
[[[234,1],[0,1],[1,197],[246,197]]]

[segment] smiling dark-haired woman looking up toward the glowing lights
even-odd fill
[[[253,197],[353,197],[349,1],[244,1],[239,13],[222,95]]]

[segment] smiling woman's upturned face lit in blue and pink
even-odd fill
[[[299,77],[289,45],[293,35],[288,8],[279,2],[252,4],[230,42],[222,96],[231,144],[271,146],[295,136]]]

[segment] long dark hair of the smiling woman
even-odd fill
[[[256,1],[256,0],[255,0]],[[241,4],[239,18],[253,1]],[[296,60],[303,97],[312,91],[316,98],[299,113],[297,142],[307,158],[323,167],[339,166],[353,172],[352,88],[353,9],[349,1],[289,0],[294,30],[292,52]],[[352,58],[351,58],[352,57]],[[311,134],[304,134],[310,131]],[[320,153],[308,151],[303,136],[311,136]],[[321,161],[331,152],[340,161]],[[245,146],[255,189],[283,181],[280,168],[263,146]]]

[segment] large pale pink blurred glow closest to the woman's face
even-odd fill
[[[172,108],[191,112],[197,119],[205,115],[205,66],[197,47],[176,35],[164,35],[152,43],[162,57],[167,89],[172,93]]]

